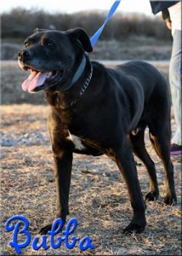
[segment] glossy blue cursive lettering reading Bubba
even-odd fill
[[[16,224],[12,224],[13,221],[17,221],[17,220],[19,221]],[[63,236],[55,237],[55,235],[60,233],[62,226],[63,226],[62,219],[57,218],[54,221],[52,229],[48,231],[48,235],[50,236],[51,247],[53,247],[54,249],[57,249],[61,246],[62,242],[65,242],[65,247],[68,249],[72,249],[76,246],[77,241],[79,241],[78,247],[82,251],[85,251],[88,248],[94,249],[92,240],[88,236],[84,236],[82,239],[76,236],[71,236],[71,234],[77,228],[76,218],[71,218],[69,220],[68,224],[65,227],[65,230],[62,231]],[[5,229],[7,231],[14,231],[13,239],[12,241],[9,242],[9,245],[11,247],[14,247],[16,253],[20,254],[21,249],[27,247],[31,243],[31,234],[28,231],[28,228],[29,228],[29,221],[27,220],[27,218],[21,215],[15,215],[14,217],[9,218],[5,224]],[[25,241],[21,243],[18,241],[19,234],[23,234],[25,236]],[[49,246],[47,244],[47,239],[48,239],[48,236],[45,236],[45,235],[43,235],[41,238],[38,236],[35,236],[32,241],[31,247],[36,251],[39,250],[41,247],[43,247],[44,250],[48,250]]]

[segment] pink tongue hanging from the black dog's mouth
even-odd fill
[[[31,92],[31,90],[34,90],[36,87],[42,85],[47,77],[47,72],[36,72],[31,71],[30,76],[28,79],[26,79],[23,84],[21,85],[22,89],[25,91]]]

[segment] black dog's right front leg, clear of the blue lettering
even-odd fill
[[[131,205],[134,210],[134,217],[130,224],[122,231],[122,233],[140,233],[145,230],[145,201],[139,187],[139,180],[137,176],[136,167],[134,164],[134,157],[130,144],[126,142],[116,154],[116,162],[122,177],[127,184],[128,194]]]

